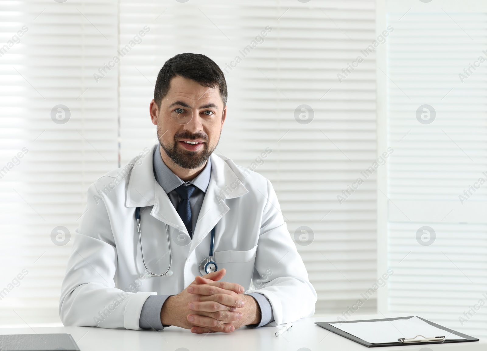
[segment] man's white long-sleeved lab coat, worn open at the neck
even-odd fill
[[[193,239],[157,183],[152,152],[103,175],[88,189],[87,207],[74,235],[62,283],[59,315],[66,326],[140,330],[142,306],[150,295],[175,295],[200,275],[215,231],[215,261],[225,281],[269,299],[274,325],[314,314],[316,291],[286,228],[269,180],[211,155],[211,177]],[[172,275],[144,276],[135,209],[141,207],[144,258],[153,273],[169,266]]]

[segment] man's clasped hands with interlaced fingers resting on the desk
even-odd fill
[[[181,293],[169,297],[161,309],[163,325],[191,329],[192,333],[230,333],[259,323],[260,311],[244,287],[225,281],[225,269],[196,279]]]

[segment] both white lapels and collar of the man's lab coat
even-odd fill
[[[151,156],[159,144],[152,146]],[[153,206],[151,215],[169,226],[187,233],[168,195],[154,177],[152,157],[133,158],[128,165],[133,165],[127,187],[126,207]],[[244,175],[232,160],[222,155],[211,155],[211,176],[200,210],[190,251],[198,246],[211,229],[228,211],[225,199],[231,199],[248,193],[242,184]]]

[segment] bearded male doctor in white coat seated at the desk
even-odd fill
[[[229,333],[313,315],[316,291],[270,181],[213,153],[226,99],[210,58],[166,61],[150,103],[159,143],[88,189],[62,284],[64,325]],[[208,258],[216,264],[202,276]]]

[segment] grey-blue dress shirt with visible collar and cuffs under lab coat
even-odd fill
[[[191,208],[191,226],[192,231],[194,232],[196,221],[198,220],[198,215],[205,198],[206,189],[208,188],[208,184],[210,182],[211,158],[208,158],[208,162],[206,162],[206,166],[203,171],[196,178],[187,182],[175,175],[169,169],[169,167],[166,166],[161,157],[160,146],[156,147],[154,150],[154,154],[152,156],[152,165],[156,181],[168,194],[169,200],[174,208],[177,209],[179,201],[181,200],[179,194],[175,191],[177,187],[183,184],[192,184],[196,187],[195,192],[189,199],[189,207]],[[272,322],[274,320],[274,316],[269,300],[264,295],[259,293],[252,293],[248,295],[255,298],[259,304],[261,309],[261,322],[259,324],[248,325],[247,327],[257,328]],[[168,325],[163,326],[161,323],[162,305],[166,299],[169,298],[169,296],[172,295],[151,295],[149,298],[147,298],[146,302],[144,302],[144,305],[142,306],[142,311],[140,312],[140,328],[162,330],[164,327],[169,327]]]

